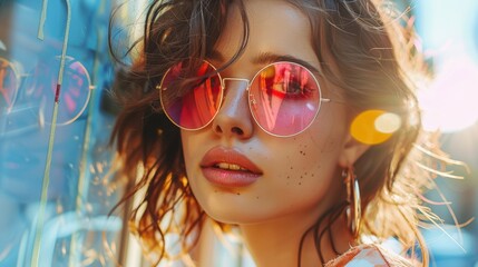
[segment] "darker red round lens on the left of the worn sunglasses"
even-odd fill
[[[206,61],[183,61],[173,66],[159,90],[165,113],[184,129],[204,128],[221,106],[221,79]]]

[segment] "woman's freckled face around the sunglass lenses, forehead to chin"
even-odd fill
[[[316,69],[311,27],[299,9],[283,1],[245,1],[250,40],[244,53],[221,72],[223,78],[253,76],[266,63],[264,55],[289,56]],[[237,7],[208,60],[221,66],[233,57],[242,37]],[[324,81],[323,97],[333,98]],[[344,105],[323,102],[305,131],[281,138],[264,132],[247,103],[246,82],[226,81],[223,106],[204,129],[182,130],[186,172],[207,215],[228,224],[282,218],[316,219],[343,199],[339,162],[349,138]]]

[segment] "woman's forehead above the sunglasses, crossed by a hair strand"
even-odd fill
[[[240,60],[253,62],[264,53],[289,55],[319,67],[312,46],[309,18],[295,6],[277,0],[244,1],[248,20],[247,46]],[[226,26],[214,48],[225,60],[240,49],[244,38],[243,19],[238,4],[232,4]]]

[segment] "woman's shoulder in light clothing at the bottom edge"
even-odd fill
[[[392,266],[412,267],[417,264],[394,251],[377,244],[363,244],[349,249],[338,258],[329,261],[325,267],[338,266]]]

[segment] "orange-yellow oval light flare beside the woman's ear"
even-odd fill
[[[383,110],[365,110],[352,121],[350,134],[358,141],[378,145],[387,141],[401,126],[401,119]]]

